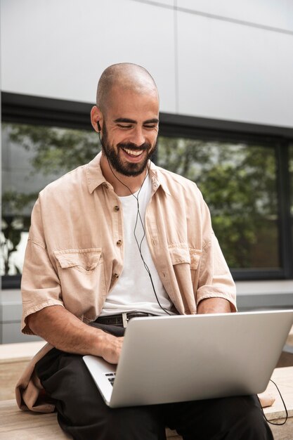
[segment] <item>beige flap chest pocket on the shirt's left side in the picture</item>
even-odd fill
[[[54,255],[65,307],[91,321],[105,297],[102,249],[58,250]]]

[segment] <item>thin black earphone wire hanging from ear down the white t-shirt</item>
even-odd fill
[[[99,140],[100,140],[100,145],[102,145],[102,147],[104,148],[104,145],[103,145],[102,139],[100,138],[100,131],[101,131],[101,129],[100,129],[100,122],[99,122],[99,121],[97,122],[97,127],[98,127],[98,138],[99,138]],[[105,148],[104,148],[104,150],[105,150]],[[112,169],[112,166],[111,166],[111,164],[110,164],[110,160],[109,160],[108,156],[106,156],[106,157],[107,157],[107,160],[108,160],[108,164],[109,164],[110,170],[111,170],[113,176],[115,177],[115,179],[117,179],[117,181],[119,181],[120,183],[122,183],[122,185],[125,186],[125,188],[127,188],[127,189],[129,190],[129,193],[131,193],[131,195],[133,195],[134,198],[136,199],[136,203],[137,203],[137,212],[136,212],[136,224],[135,224],[135,226],[134,226],[134,238],[135,238],[135,240],[136,240],[136,245],[137,245],[137,247],[138,247],[138,252],[139,252],[139,254],[140,254],[140,256],[141,256],[141,260],[143,261],[143,266],[144,266],[144,268],[145,268],[145,271],[147,271],[148,276],[150,277],[150,283],[151,283],[151,285],[152,285],[152,290],[153,290],[154,293],[155,293],[155,298],[157,299],[157,304],[159,304],[159,307],[160,307],[165,313],[167,313],[168,315],[171,315],[171,313],[169,313],[169,311],[167,311],[166,309],[164,309],[164,307],[162,306],[162,304],[159,302],[159,298],[157,297],[157,292],[156,292],[156,290],[155,290],[155,285],[154,285],[153,280],[152,280],[152,274],[150,273],[150,268],[148,267],[148,264],[146,264],[145,259],[143,258],[143,252],[142,252],[142,250],[141,250],[141,246],[142,246],[142,244],[143,244],[143,240],[145,239],[145,226],[144,226],[144,224],[143,224],[143,219],[141,218],[141,212],[140,212],[140,209],[139,209],[139,200],[138,200],[138,197],[139,197],[139,194],[141,193],[141,189],[143,188],[143,183],[145,183],[145,180],[147,179],[147,177],[148,177],[148,175],[149,175],[149,173],[150,173],[150,164],[149,164],[148,167],[147,167],[147,170],[146,170],[146,173],[145,173],[145,178],[143,179],[143,183],[141,183],[141,188],[139,188],[137,195],[135,195],[135,194],[131,191],[131,189],[130,189],[130,188],[129,188],[124,182],[122,182],[122,181],[119,179],[119,177],[116,176],[115,172],[114,172],[113,169]],[[143,228],[143,237],[141,238],[141,242],[138,242],[138,238],[137,238],[137,236],[136,236],[136,227],[137,227],[137,225],[138,225],[138,220],[141,222],[141,227]]]

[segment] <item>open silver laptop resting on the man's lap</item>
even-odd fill
[[[293,310],[133,318],[117,368],[84,362],[112,408],[258,394],[292,323]]]

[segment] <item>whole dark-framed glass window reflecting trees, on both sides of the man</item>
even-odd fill
[[[73,117],[69,125],[75,127]],[[77,129],[50,127],[48,120],[43,126],[2,124],[0,271],[4,287],[13,278],[17,281],[13,287],[20,284],[30,214],[39,190],[89,162],[100,150],[96,133],[79,127],[89,124],[83,122]],[[286,215],[289,219],[289,198],[285,200],[283,188],[289,194],[289,185],[284,174],[288,161],[282,156],[288,147],[282,150],[270,138],[252,141],[252,136],[242,136],[240,141],[239,136],[232,140],[225,134],[224,140],[223,134],[211,138],[208,131],[198,135],[195,129],[186,133],[184,127],[176,131],[174,126],[170,136],[168,126],[160,129],[157,164],[197,183],[234,276],[291,277],[288,261],[292,261],[292,247],[287,243],[292,240],[293,228],[289,231],[289,220],[288,228],[284,221]],[[289,173],[292,188],[293,143],[289,146]],[[293,188],[290,206],[293,217]]]

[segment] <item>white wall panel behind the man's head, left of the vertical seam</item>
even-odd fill
[[[174,11],[131,0],[1,0],[1,88],[93,102],[100,73],[129,61],[175,110]]]

